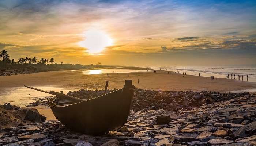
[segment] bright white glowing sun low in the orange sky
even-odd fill
[[[79,42],[78,45],[87,48],[86,51],[89,53],[100,53],[105,47],[113,45],[113,39],[102,30],[87,30],[84,38],[84,41]]]

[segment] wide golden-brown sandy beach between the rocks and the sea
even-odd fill
[[[114,70],[114,69],[113,69]],[[129,77],[127,77],[129,74]],[[256,89],[256,83],[246,82],[240,80],[232,80],[226,78],[215,78],[210,80],[210,77],[199,77],[192,75],[171,73],[160,71],[153,72],[133,72],[133,73],[109,73],[98,75],[85,75],[81,70],[61,70],[54,72],[41,72],[37,74],[19,74],[15,76],[1,76],[0,77],[0,93],[15,92],[16,89],[24,89],[24,94],[33,93],[33,90],[27,90],[23,85],[42,87],[42,89],[66,89],[79,90],[83,89],[103,89],[106,80],[109,81],[108,89],[122,88],[124,80],[132,79],[133,85],[136,88],[150,89],[150,90],[175,90],[175,91],[251,91]],[[138,79],[140,84],[138,84]],[[44,88],[45,87],[45,88]],[[26,93],[27,92],[27,93]],[[64,92],[65,93],[65,92]],[[39,92],[38,92],[39,94]],[[1,96],[1,95],[0,95]],[[12,94],[10,95],[12,96]],[[49,95],[50,96],[50,95]],[[14,99],[15,97],[10,97]],[[14,99],[15,100],[15,99]],[[1,101],[1,104],[3,101]],[[28,104],[28,103],[27,103]],[[38,111],[47,116],[47,120],[55,119],[50,108],[40,106],[35,107]]]

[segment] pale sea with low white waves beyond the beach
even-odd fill
[[[183,72],[189,75],[199,76],[199,73],[203,77],[214,76],[215,78],[226,78],[226,74],[229,74],[229,79],[231,79],[231,74],[235,74],[235,80],[238,80],[238,75],[240,80],[244,76],[244,81],[256,82],[256,65],[229,65],[229,66],[144,66],[148,68],[153,68],[155,70],[167,70],[176,72],[179,70],[182,74]],[[232,78],[234,80],[234,76]]]

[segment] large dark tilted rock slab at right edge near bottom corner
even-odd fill
[[[236,138],[248,137],[249,135],[256,134],[256,121],[242,126],[239,130],[234,132]]]

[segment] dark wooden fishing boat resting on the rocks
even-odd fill
[[[51,109],[55,117],[72,130],[92,135],[105,134],[118,130],[127,121],[134,89],[132,80],[125,80],[122,89],[88,100],[57,96],[57,106]],[[73,104],[66,104],[69,101]]]

